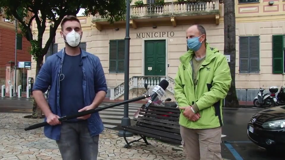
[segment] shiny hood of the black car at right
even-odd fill
[[[268,122],[285,119],[285,105],[268,108],[255,113],[252,118],[260,122]]]

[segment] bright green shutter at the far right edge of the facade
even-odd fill
[[[283,35],[272,35],[272,73],[282,74],[284,72],[283,45]]]

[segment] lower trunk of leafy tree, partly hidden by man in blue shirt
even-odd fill
[[[44,59],[44,56],[39,56],[38,59],[37,59],[36,79],[37,79],[37,75],[39,73],[39,70],[41,70],[41,68],[42,68],[43,59]],[[42,110],[39,108],[39,106],[37,105],[36,101],[33,98],[33,115],[32,115],[32,118],[40,119],[42,117],[43,117],[42,116]]]

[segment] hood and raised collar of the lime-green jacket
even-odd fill
[[[214,48],[214,47],[210,47],[210,45],[208,43],[205,44],[206,45],[206,58],[204,60],[204,63],[210,63],[210,61],[216,57],[216,55],[214,53],[219,52],[219,49]],[[190,60],[192,60],[193,55],[195,54],[195,52],[191,49],[189,49],[184,55],[182,55],[179,60],[181,61],[181,63],[188,63],[190,62]]]

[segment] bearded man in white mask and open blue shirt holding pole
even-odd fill
[[[45,114],[46,137],[56,140],[64,160],[96,160],[103,123],[99,113],[59,122],[61,116],[94,109],[107,93],[105,74],[97,56],[80,49],[80,21],[61,22],[65,48],[47,58],[35,80],[33,95]],[[43,96],[50,86],[48,103]]]

